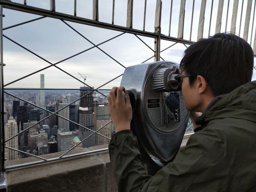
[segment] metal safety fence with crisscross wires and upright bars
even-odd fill
[[[187,1],[188,2],[188,1]],[[138,40],[140,40],[146,47],[148,47],[149,49],[151,49],[152,51],[152,56],[148,59],[146,59],[145,61],[143,61],[142,63],[150,60],[151,58],[154,58],[154,61],[160,61],[160,59],[164,60],[161,57],[161,53],[173,46],[175,46],[176,44],[183,44],[185,47],[187,47],[186,45],[190,45],[192,44],[194,41],[191,41],[192,39],[192,34],[195,33],[193,32],[193,27],[195,25],[195,23],[198,23],[198,30],[197,32],[197,39],[199,38],[203,38],[204,37],[204,29],[205,29],[205,15],[208,14],[206,12],[206,5],[207,5],[207,0],[202,0],[201,1],[201,9],[200,9],[200,14],[199,14],[199,20],[197,22],[195,22],[194,20],[194,16],[195,16],[195,0],[191,1],[191,5],[192,5],[192,13],[191,13],[191,22],[190,22],[190,28],[189,28],[189,38],[186,40],[183,38],[183,34],[184,34],[184,20],[185,20],[185,7],[186,7],[186,0],[180,0],[180,12],[179,12],[179,21],[178,24],[175,25],[175,22],[173,21],[173,14],[174,14],[174,10],[173,10],[173,0],[171,0],[170,2],[170,9],[169,9],[169,27],[168,27],[168,35],[163,35],[161,33],[161,18],[163,17],[162,15],[162,1],[161,0],[156,0],[155,1],[155,5],[156,5],[156,11],[155,11],[155,20],[154,20],[154,29],[152,29],[153,32],[150,31],[145,31],[145,23],[146,23],[146,12],[147,12],[147,0],[144,1],[144,9],[143,11],[143,23],[142,23],[142,30],[139,29],[134,29],[133,28],[133,0],[128,0],[127,1],[127,19],[126,19],[126,26],[118,26],[115,25],[115,21],[114,21],[114,13],[115,13],[115,0],[113,0],[113,6],[112,6],[112,20],[111,23],[104,23],[99,21],[99,1],[98,0],[93,0],[93,19],[87,19],[87,18],[83,18],[83,17],[78,17],[77,16],[77,2],[76,0],[74,0],[74,14],[73,15],[67,15],[64,13],[60,13],[60,12],[56,12],[55,8],[56,8],[56,4],[55,4],[55,0],[50,0],[50,10],[47,9],[41,9],[41,8],[37,8],[37,7],[33,7],[33,6],[29,6],[27,5],[26,0],[24,0],[23,4],[20,3],[13,3],[9,0],[0,0],[0,51],[1,51],[1,78],[0,78],[0,83],[1,83],[1,102],[0,102],[0,108],[1,108],[1,129],[2,132],[0,133],[0,138],[4,138],[4,94],[7,94],[9,96],[12,96],[16,99],[20,99],[23,102],[27,102],[32,106],[35,106],[36,108],[39,108],[43,111],[47,111],[49,114],[49,116],[41,119],[40,121],[38,121],[37,123],[35,123],[34,125],[37,125],[40,122],[43,122],[45,119],[49,118],[52,115],[56,115],[59,118],[65,119],[68,122],[72,122],[75,125],[78,125],[79,127],[85,128],[88,131],[91,131],[91,134],[88,136],[92,136],[93,134],[98,134],[101,137],[105,137],[107,139],[110,140],[109,137],[106,137],[105,135],[99,134],[98,132],[104,128],[106,125],[108,125],[109,123],[111,123],[111,121],[109,121],[108,123],[106,123],[105,125],[103,125],[101,128],[97,129],[96,131],[91,130],[90,128],[87,128],[83,125],[80,125],[70,119],[67,119],[61,115],[58,114],[59,111],[63,110],[64,108],[67,108],[68,106],[72,105],[73,103],[75,103],[76,101],[79,101],[79,99],[87,96],[88,94],[92,93],[93,91],[96,91],[100,94],[102,94],[103,96],[107,97],[105,94],[103,94],[101,91],[102,89],[100,89],[101,87],[105,86],[106,84],[112,82],[113,80],[119,78],[120,76],[122,76],[122,74],[120,74],[119,76],[116,76],[115,78],[111,79],[110,81],[107,81],[106,83],[102,84],[101,86],[97,87],[96,89],[94,89],[92,86],[86,84],[85,82],[77,79],[75,76],[71,75],[70,73],[68,73],[67,71],[61,69],[61,67],[58,67],[57,65],[69,60],[70,58],[76,57],[77,55],[80,55],[84,52],[89,51],[90,49],[93,48],[97,48],[99,49],[101,52],[103,52],[105,55],[107,55],[109,58],[111,58],[112,61],[114,61],[115,63],[119,64],[120,66],[122,66],[123,68],[125,68],[124,64],[121,64],[119,61],[117,61],[115,58],[113,58],[113,56],[111,56],[110,54],[108,54],[106,51],[104,51],[102,48],[100,48],[99,46],[102,44],[107,43],[108,41],[111,41],[119,36],[124,35],[125,33],[129,33],[129,34],[133,34],[135,35],[136,38],[138,38]],[[239,0],[234,0],[233,1],[233,12],[232,12],[232,22],[231,22],[231,28],[230,28],[230,32],[235,33],[236,32],[236,19],[237,19],[237,14],[238,14],[238,5],[239,2],[242,6],[244,6],[244,0],[241,1]],[[210,1],[211,3],[211,9],[210,9],[210,19],[209,19],[209,30],[208,30],[208,35],[210,35],[210,31],[211,31],[211,23],[212,20],[214,18],[213,16],[213,3],[214,0]],[[230,15],[230,0],[228,0],[227,3],[227,15],[226,15],[226,23],[225,23],[225,32],[227,31],[227,24],[228,24],[228,16]],[[254,25],[254,16],[255,16],[255,4],[256,0],[254,1],[254,8],[253,8],[253,17],[251,17],[251,7],[252,7],[252,0],[247,0],[247,9],[246,9],[246,17],[245,17],[245,21],[244,21],[244,33],[243,33],[243,38],[247,41],[248,40],[248,34],[249,31],[251,31],[251,35],[250,35],[250,44],[252,42],[252,36],[253,36],[253,27],[255,27],[256,25]],[[216,26],[215,26],[215,33],[221,32],[221,20],[223,17],[223,7],[224,7],[224,0],[219,0],[218,1],[218,12],[217,15],[215,15],[216,18]],[[16,11],[20,11],[20,12],[28,12],[31,14],[35,14],[35,15],[41,15],[41,17],[32,19],[32,20],[28,20],[26,22],[22,22],[22,23],[17,23],[15,25],[9,26],[9,27],[5,27],[3,28],[3,9],[12,9],[12,10],[16,10]],[[239,22],[239,35],[240,35],[240,31],[241,31],[241,23],[242,23],[242,15],[243,15],[243,8],[241,9],[241,17],[240,17],[240,22]],[[26,23],[31,23],[31,22],[35,22],[41,19],[44,19],[46,17],[50,17],[50,18],[54,18],[54,19],[58,19],[61,20],[68,28],[72,29],[74,32],[76,32],[78,35],[80,35],[82,38],[84,38],[86,41],[88,41],[90,44],[92,44],[92,46],[90,48],[84,49],[81,52],[76,53],[75,55],[71,55],[61,61],[58,61],[56,63],[52,63],[50,61],[48,61],[47,59],[43,58],[42,56],[38,55],[37,53],[33,52],[32,50],[26,48],[25,46],[23,46],[22,44],[18,43],[17,41],[14,41],[12,38],[8,37],[7,35],[3,34],[3,31],[7,30],[7,29],[11,29],[14,28],[16,26],[20,26]],[[250,23],[251,18],[253,18],[252,23]],[[73,23],[80,23],[80,24],[84,24],[84,25],[90,25],[90,26],[96,26],[96,27],[100,27],[100,28],[104,28],[104,29],[111,29],[114,31],[119,31],[122,32],[119,35],[116,35],[112,38],[109,38],[106,41],[103,41],[99,44],[95,44],[92,41],[90,41],[88,38],[86,38],[84,35],[81,34],[81,32],[79,32],[78,30],[76,30],[75,28],[73,28],[70,24],[67,23],[67,21],[73,22]],[[175,27],[177,27],[177,36],[172,37],[170,36],[172,29],[174,29]],[[195,28],[195,27],[194,27]],[[251,29],[251,30],[250,30]],[[154,49],[151,48],[150,46],[148,46],[148,44],[145,43],[145,41],[143,41],[142,38],[140,38],[140,36],[145,36],[145,37],[149,37],[149,38],[154,38]],[[26,51],[30,52],[31,54],[35,55],[36,57],[40,58],[41,60],[45,61],[46,63],[48,63],[49,65],[47,67],[44,67],[40,70],[37,70],[33,73],[30,73],[28,75],[25,75],[19,79],[16,79],[14,81],[11,81],[9,83],[4,84],[3,82],[3,66],[4,66],[4,61],[3,61],[3,38],[6,38],[7,40],[11,41],[12,43],[16,44],[17,46],[21,47],[22,49],[25,49]],[[173,42],[169,47],[166,47],[165,49],[160,49],[160,43],[161,40],[167,40],[167,41],[171,41]],[[254,52],[256,51],[256,37],[254,37],[254,46],[253,46],[253,50]],[[44,109],[38,105],[33,104],[32,102],[26,101],[25,99],[22,99],[18,96],[15,96],[14,94],[11,94],[8,92],[8,90],[19,90],[19,88],[5,88],[6,86],[13,84],[17,81],[20,81],[22,79],[25,79],[29,76],[32,76],[35,73],[41,72],[42,70],[45,70],[49,67],[55,67],[58,70],[61,70],[62,72],[66,73],[68,76],[72,77],[73,79],[76,79],[77,81],[79,81],[80,83],[86,85],[87,87],[90,87],[90,90],[87,94],[79,97],[78,99],[74,100],[73,102],[70,102],[68,105],[64,106],[63,108],[58,109],[55,112],[49,111],[47,109]],[[256,67],[254,67],[256,70]],[[22,90],[29,90],[30,88],[22,88]],[[34,88],[32,90],[35,90]],[[37,90],[51,90],[51,89],[37,89]],[[54,90],[64,90],[64,89],[54,89]],[[65,89],[68,90],[68,89]],[[79,90],[79,89],[70,89],[70,90]],[[73,148],[75,148],[77,145],[79,145],[80,143],[82,143],[84,140],[86,140],[88,137],[86,137],[84,140],[82,140],[80,143],[76,144],[75,146],[73,146],[72,148],[70,148],[70,150],[64,152],[63,154],[61,154],[59,157],[56,158],[52,158],[52,159],[45,159],[43,157],[34,155],[34,154],[28,154],[24,151],[20,151],[18,149],[15,148],[11,148],[5,145],[6,142],[8,142],[9,140],[13,139],[14,137],[17,137],[18,135],[22,134],[24,131],[29,130],[30,128],[32,128],[34,125],[29,126],[28,128],[24,129],[23,131],[19,132],[18,134],[13,135],[12,137],[10,137],[7,140],[3,139],[3,143],[0,143],[2,146],[2,154],[1,154],[1,162],[2,162],[2,169],[12,169],[12,168],[17,168],[17,167],[21,167],[21,166],[26,166],[26,165],[30,165],[30,164],[38,164],[38,163],[43,163],[43,162],[49,162],[49,161],[53,161],[53,160],[59,160],[59,159],[63,159],[63,158],[68,158],[68,157],[73,157],[73,156],[78,156],[78,155],[82,155],[82,154],[88,154],[88,153],[93,153],[93,152],[98,152],[98,151],[106,151],[108,150],[108,148],[103,148],[100,150],[95,150],[95,151],[90,151],[90,152],[84,152],[84,153],[80,153],[80,154],[72,154],[72,155],[66,155],[69,151],[71,151]],[[0,140],[1,142],[1,140]],[[4,167],[4,148],[9,148],[15,151],[18,151],[20,153],[24,153],[30,156],[34,156],[37,157],[41,160],[36,161],[36,162],[32,162],[32,163],[25,163],[25,164],[20,164],[20,165],[15,165],[15,166],[8,166],[8,167]]]

